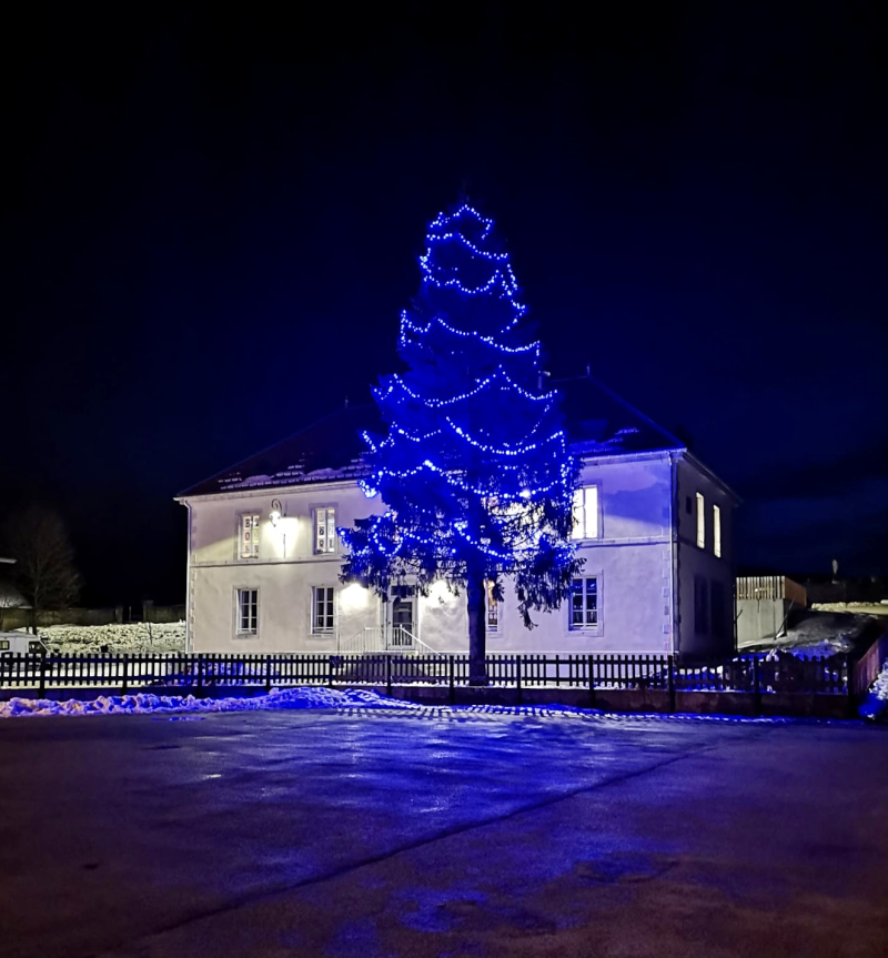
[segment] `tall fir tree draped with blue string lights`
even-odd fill
[[[531,628],[531,612],[559,605],[582,566],[568,541],[577,465],[493,221],[464,204],[426,240],[401,316],[407,371],[374,390],[389,435],[366,436],[362,486],[387,510],[340,530],[341,577],[383,596],[393,583],[464,589],[470,682],[485,684],[485,594],[502,602],[511,578]]]

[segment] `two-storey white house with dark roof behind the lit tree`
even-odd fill
[[[674,436],[594,380],[559,384],[582,458],[575,536],[586,559],[569,602],[524,627],[488,606],[488,652],[735,647],[737,498]],[[382,602],[339,581],[337,526],[383,510],[357,485],[375,409],[342,410],[186,490],[188,647],[195,652],[465,652],[464,595],[406,586]]]

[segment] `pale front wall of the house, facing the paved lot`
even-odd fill
[[[569,603],[553,613],[534,613],[526,629],[506,587],[500,632],[491,652],[664,652],[672,648],[670,462],[667,455],[589,460],[583,484],[599,491],[598,538],[579,545],[584,574],[597,575],[599,624],[569,627]],[[271,502],[284,516],[269,522]],[[329,652],[335,636],[310,634],[311,587],[337,588],[337,631],[343,639],[381,621],[379,599],[357,585],[339,582],[342,556],[315,556],[312,510],[335,505],[337,525],[381,512],[354,483],[325,483],[286,490],[245,491],[196,497],[191,507],[190,639],[198,652]],[[238,516],[259,513],[259,557],[238,557]],[[235,635],[235,589],[259,589],[259,634]],[[417,599],[418,638],[434,649],[467,648],[465,594],[441,584]]]

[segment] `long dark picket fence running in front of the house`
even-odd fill
[[[767,695],[800,692],[848,695],[845,655],[797,658],[737,655],[717,662],[688,663],[666,654],[498,653],[486,658],[490,684],[501,687],[575,687],[740,692]],[[270,689],[300,685],[468,684],[465,654],[393,655],[370,653],[271,655],[40,655],[0,656],[0,688],[181,687],[203,693],[225,686]]]

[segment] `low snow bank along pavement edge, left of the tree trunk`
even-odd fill
[[[386,698],[375,692],[349,688],[272,689],[253,698],[195,698],[193,695],[100,695],[90,702],[69,698],[11,698],[0,702],[0,718],[27,715],[149,715],[163,712],[253,712],[278,708],[421,708],[414,702]]]

